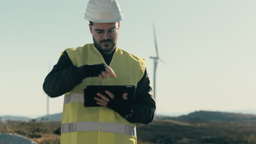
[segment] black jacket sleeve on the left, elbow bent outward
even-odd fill
[[[66,51],[63,52],[53,70],[45,77],[43,89],[51,98],[70,92],[86,77],[84,67],[76,67]]]

